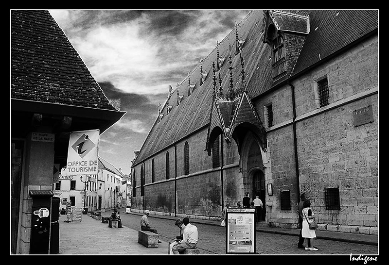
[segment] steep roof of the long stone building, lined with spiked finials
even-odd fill
[[[301,72],[307,67],[314,66],[318,61],[318,53],[321,59],[330,56],[337,50],[342,49],[359,37],[374,31],[378,28],[377,11],[283,11],[283,13],[292,13],[310,16],[310,31],[307,34],[306,41],[301,48],[301,54],[292,72],[291,76]],[[336,15],[339,13],[338,15]],[[306,23],[298,17],[290,17],[287,14],[274,13],[280,30],[307,32]],[[355,17],[356,16],[356,17]],[[336,20],[336,21],[334,21]],[[368,25],[368,24],[373,25]],[[315,31],[318,27],[318,31]],[[334,28],[336,27],[336,28]],[[237,25],[239,39],[244,40],[241,54],[244,58],[246,72],[246,87],[249,97],[255,98],[270,90],[276,83],[273,83],[272,76],[272,54],[268,44],[263,42],[264,36],[264,12],[255,10],[248,14]],[[220,56],[228,58],[229,50],[233,62],[233,86],[235,90],[241,87],[241,66],[239,55],[235,55],[236,36],[233,29],[221,42],[218,42],[218,49],[212,52],[199,64],[190,75],[182,81],[179,86],[179,95],[183,99],[177,106],[177,93],[172,93],[169,104],[173,105],[171,112],[166,115],[166,109],[163,107],[161,113],[164,114],[162,120],[151,128],[147,135],[141,150],[134,160],[133,166],[141,163],[151,155],[162,151],[173,145],[179,140],[184,139],[191,133],[199,129],[206,128],[210,123],[212,107],[212,62],[217,62],[217,51]],[[357,33],[355,35],[355,33]],[[342,40],[342,41],[339,41]],[[347,40],[347,41],[346,41]],[[200,86],[200,66],[203,73],[208,73],[204,84]],[[220,73],[222,79],[223,92],[229,89],[228,60],[224,60]],[[188,78],[191,84],[195,84],[193,92],[188,96]],[[172,81],[174,82],[174,81]],[[219,87],[219,85],[217,86]],[[177,89],[177,88],[176,88]],[[223,104],[220,104],[223,108]],[[229,112],[231,105],[225,105],[224,116]],[[227,120],[227,119],[226,119]],[[215,121],[216,122],[216,121]],[[204,139],[204,146],[207,139]]]

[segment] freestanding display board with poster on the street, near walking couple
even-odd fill
[[[229,208],[226,254],[255,254],[255,209]]]

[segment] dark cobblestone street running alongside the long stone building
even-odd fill
[[[123,225],[129,228],[139,230],[141,215],[134,214],[121,214]],[[149,216],[151,226],[155,226],[159,232],[159,235],[164,238],[165,241],[173,242],[173,238],[178,235],[178,229],[174,225],[174,221],[164,218],[156,218]],[[226,254],[225,242],[226,234],[225,228],[199,224],[193,224],[197,226],[199,233],[198,248],[209,251],[214,254]],[[258,254],[267,255],[328,255],[328,254],[378,254],[377,246],[355,244],[348,242],[339,242],[325,239],[315,239],[315,246],[318,247],[318,251],[306,251],[304,249],[297,248],[298,242],[297,236],[282,235],[266,232],[256,232],[256,251]]]

